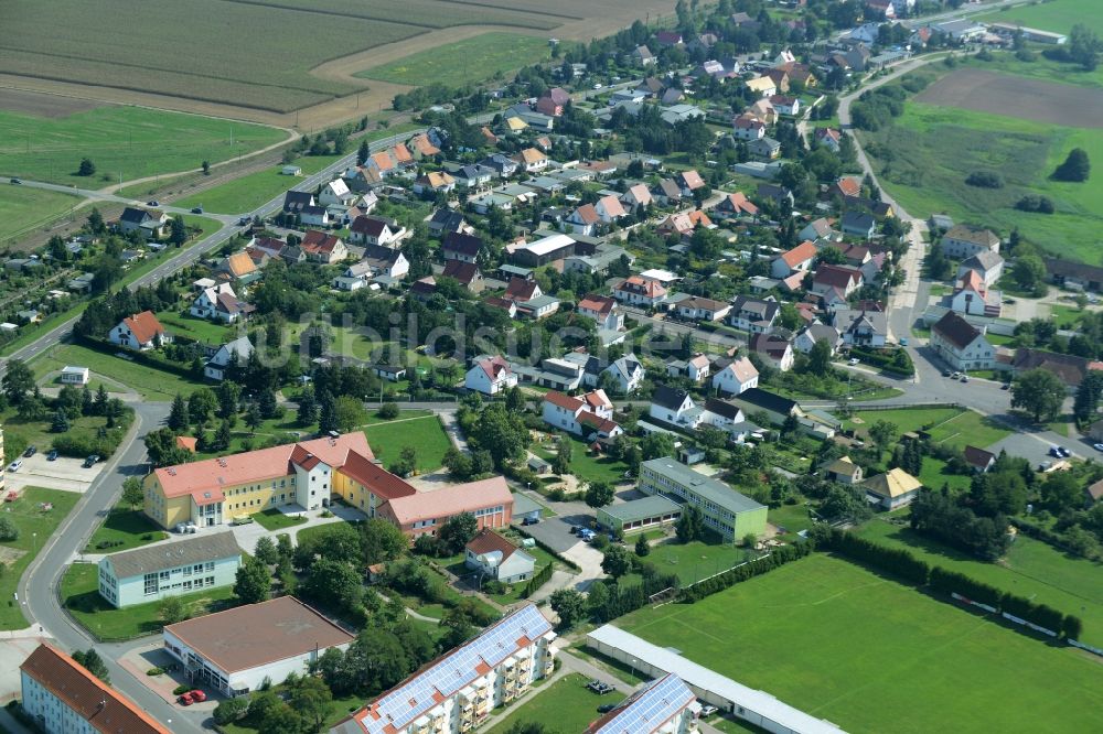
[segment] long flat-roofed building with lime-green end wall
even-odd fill
[[[765,505],[739,494],[719,479],[699,474],[670,456],[640,464],[636,484],[646,495],[662,495],[700,510],[705,525],[728,542],[765,532]]]

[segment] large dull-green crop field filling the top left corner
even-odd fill
[[[286,112],[362,90],[325,62],[453,25],[549,30],[554,12],[438,0],[9,0],[0,73]]]

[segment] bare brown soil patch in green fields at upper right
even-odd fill
[[[1103,128],[1103,90],[977,68],[947,74],[915,101],[1070,128]]]

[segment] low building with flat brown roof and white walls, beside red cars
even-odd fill
[[[246,604],[168,625],[164,650],[196,686],[243,695],[265,679],[306,674],[330,648],[345,650],[353,636],[293,596]]]

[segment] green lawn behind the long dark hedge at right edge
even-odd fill
[[[1075,614],[1084,623],[1082,641],[1103,647],[1103,563],[1069,555],[1022,533],[999,562],[985,563],[890,521],[906,519],[907,511],[878,516],[856,532],[893,548],[907,548],[933,565]]]

